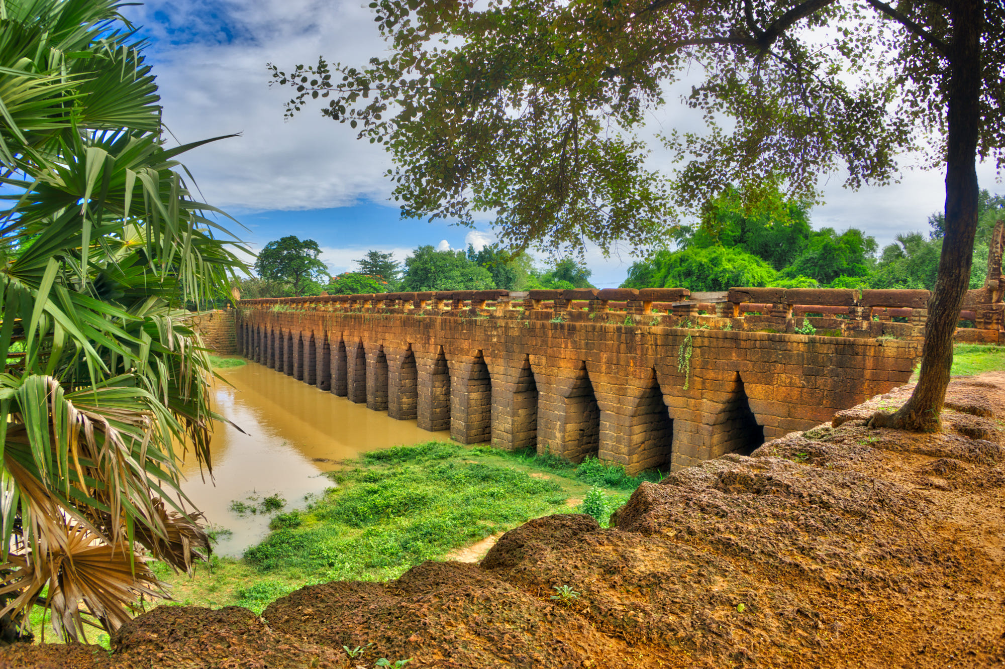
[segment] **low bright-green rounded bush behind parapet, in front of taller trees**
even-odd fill
[[[772,285],[775,269],[739,248],[710,246],[657,251],[628,269],[623,288],[687,288],[728,290],[734,286]]]

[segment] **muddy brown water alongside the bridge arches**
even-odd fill
[[[219,370],[231,385],[217,383],[216,410],[240,426],[217,423],[211,445],[213,479],[200,476],[194,458],[182,465],[182,489],[206,519],[233,532],[222,536],[217,554],[240,555],[268,531],[272,514],[230,510],[231,502],[260,504],[278,494],[283,510],[304,508],[310,496],[333,485],[324,472],[366,451],[433,439],[450,433],[420,430],[343,397],[318,390],[255,363]]]

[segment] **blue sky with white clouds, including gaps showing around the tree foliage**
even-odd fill
[[[212,9],[207,9],[211,7]],[[265,64],[280,69],[330,61],[365,64],[386,50],[373,14],[360,0],[151,0],[125,7],[151,39],[148,57],[161,86],[164,118],[181,143],[240,133],[183,157],[206,201],[234,215],[254,247],[280,236],[312,238],[333,272],[354,268],[368,249],[398,259],[420,244],[440,248],[479,246],[492,239],[479,230],[400,220],[388,202],[391,167],[377,145],[357,142],[346,126],[323,119],[317,106],[284,122],[285,89],[270,88]],[[651,116],[643,135],[694,123],[675,101]],[[654,165],[668,159],[654,152]],[[993,166],[979,169],[991,191]],[[835,176],[824,185],[826,204],[813,210],[814,227],[858,227],[880,247],[898,232],[926,230],[928,215],[942,209],[943,174],[909,171],[901,183],[858,192]],[[616,286],[632,258],[615,252],[588,255],[593,282]]]

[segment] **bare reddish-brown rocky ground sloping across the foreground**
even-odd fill
[[[951,384],[941,433],[865,427],[910,393],[643,483],[616,529],[538,518],[479,565],[305,588],[264,620],[161,607],[111,657],[8,648],[0,668],[342,667],[367,643],[351,666],[1005,665],[1005,374]]]

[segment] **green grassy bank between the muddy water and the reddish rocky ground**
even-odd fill
[[[155,571],[179,604],[260,613],[305,585],[394,579],[531,518],[577,512],[594,487],[592,498],[606,497],[606,518],[644,480],[596,459],[574,465],[443,442],[367,453],[330,477],[333,487],[306,509],[276,512],[271,533],[243,559],[214,556],[192,579],[166,565]]]

